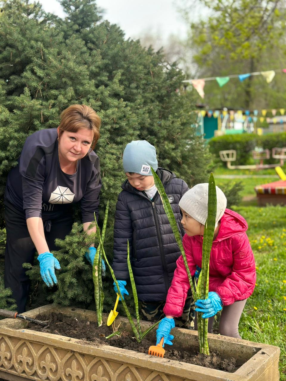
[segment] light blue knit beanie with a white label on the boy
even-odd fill
[[[132,140],[123,152],[124,172],[140,173],[152,176],[151,166],[154,171],[158,168],[156,148],[146,140]]]

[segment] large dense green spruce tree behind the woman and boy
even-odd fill
[[[156,146],[159,165],[175,171],[189,186],[206,180],[209,154],[193,127],[192,99],[182,93],[183,75],[175,63],[167,64],[160,51],[146,50],[139,41],[126,40],[117,25],[101,22],[94,1],[60,3],[67,13],[64,20],[43,12],[39,3],[2,2],[0,192],[3,197],[8,171],[16,165],[29,134],[56,128],[61,111],[70,104],[91,106],[101,117],[95,149],[102,177],[99,223],[109,200],[105,246],[112,258],[125,145],[134,139],[148,140]],[[79,271],[70,282],[80,284],[83,265],[78,260],[75,264]],[[82,279],[87,280],[85,275]],[[110,288],[109,279],[106,284]],[[85,287],[82,300],[90,303],[93,285]],[[109,293],[107,303],[114,298],[113,291]],[[69,296],[78,300],[76,294],[66,293],[66,299]],[[64,294],[58,300],[64,302]]]

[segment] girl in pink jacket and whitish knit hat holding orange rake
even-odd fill
[[[238,323],[246,303],[255,287],[256,273],[254,256],[246,235],[247,223],[238,213],[226,209],[227,199],[217,190],[217,216],[209,263],[209,297],[197,300],[196,311],[210,318],[208,332],[212,333],[214,315],[222,309],[219,332],[221,335],[241,338]],[[187,191],[179,202],[182,210],[182,225],[186,234],[183,247],[191,275],[202,265],[202,238],[207,219],[208,184],[198,184]],[[166,317],[159,323],[157,344],[164,336],[164,344],[172,345],[174,317],[182,314],[182,308],[190,288],[188,275],[180,256],[168,290],[164,307]],[[195,329],[196,322],[195,322]],[[164,345],[163,345],[164,346]]]

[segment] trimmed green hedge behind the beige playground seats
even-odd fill
[[[270,151],[274,147],[286,147],[286,132],[266,134],[262,136],[246,133],[242,135],[223,135],[212,138],[209,141],[209,150],[217,158],[220,158],[219,151],[235,149],[235,164],[238,165],[258,162],[252,158],[251,151],[254,150],[255,147],[269,149]],[[273,159],[271,155],[272,152],[270,152],[270,159],[264,161],[265,164],[277,162],[277,159]]]

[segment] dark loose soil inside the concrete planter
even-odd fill
[[[149,346],[156,345],[156,343],[149,341],[146,337],[143,339],[142,343],[137,343],[136,339],[133,338],[128,331],[122,331],[120,336],[116,335],[112,336],[110,339],[106,339],[106,336],[112,333],[112,327],[98,327],[95,322],[78,320],[60,313],[52,312],[48,316],[38,315],[36,319],[42,321],[48,320],[48,327],[42,327],[41,325],[29,322],[30,329],[80,339],[84,341],[85,344],[88,342],[89,345],[98,346],[104,344],[141,353],[148,353]],[[233,357],[222,359],[219,354],[210,354],[210,356],[206,356],[195,353],[191,348],[190,351],[186,351],[175,347],[175,345],[172,347],[167,345],[164,349],[165,359],[201,365],[203,367],[224,370],[227,372],[235,372],[239,368]]]

